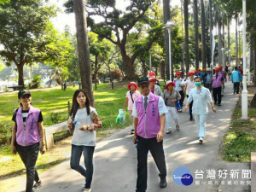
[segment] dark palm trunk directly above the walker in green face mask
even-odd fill
[[[198,8],[197,0],[194,0],[194,27],[195,27],[195,69],[199,68],[199,53],[198,53]]]

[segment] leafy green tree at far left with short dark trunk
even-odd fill
[[[7,66],[12,61],[15,63],[19,85],[24,85],[24,65],[53,61],[54,58],[48,55],[49,51],[58,52],[57,49],[51,49],[53,44],[47,36],[52,29],[49,19],[53,16],[54,7],[45,7],[39,0],[14,0],[0,4],[0,42],[4,47],[0,55],[6,59]]]

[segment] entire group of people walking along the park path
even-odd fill
[[[133,143],[137,143],[137,192],[147,189],[147,159],[148,151],[159,169],[160,188],[166,188],[166,160],[163,150],[163,137],[172,133],[172,119],[175,128],[180,129],[178,113],[189,108],[189,120],[195,119],[198,129],[198,139],[203,142],[206,134],[207,103],[216,113],[212,102],[220,106],[224,90],[225,75],[222,67],[216,67],[214,74],[208,68],[189,71],[186,78],[182,73],[176,73],[174,81],[167,81],[162,92],[154,73],[138,79],[127,85],[124,110],[128,111],[132,120]],[[241,73],[238,67],[230,75],[234,83],[234,94],[239,92]],[[140,92],[137,91],[139,88]],[[184,96],[187,102],[184,104]],[[35,168],[38,153],[45,153],[45,137],[43,129],[43,114],[40,109],[32,107],[32,95],[29,90],[18,93],[20,108],[15,109],[12,120],[11,148],[20,155],[26,166],[26,192],[32,192],[41,186]],[[73,94],[73,104],[67,119],[68,129],[73,133],[70,166],[84,177],[84,191],[91,191],[93,177],[93,154],[96,147],[96,131],[102,128],[102,122],[96,113],[96,108],[90,107],[90,100],[84,90],[76,90]],[[84,166],[80,165],[84,156]]]

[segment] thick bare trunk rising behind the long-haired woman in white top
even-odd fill
[[[86,91],[90,99],[90,105],[95,107],[90,71],[90,52],[87,37],[85,0],[73,0],[73,9],[76,20],[82,89]]]

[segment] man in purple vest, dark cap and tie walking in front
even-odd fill
[[[132,116],[134,119],[133,143],[137,143],[137,189],[147,189],[148,150],[159,169],[160,188],[166,188],[166,159],[163,149],[163,137],[166,125],[165,113],[168,113],[164,100],[150,92],[148,78],[138,79],[142,96],[135,100]]]

